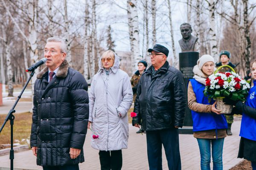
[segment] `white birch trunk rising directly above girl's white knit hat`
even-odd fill
[[[218,61],[218,47],[215,32],[215,0],[209,0],[209,38],[210,38],[210,51],[215,62]]]

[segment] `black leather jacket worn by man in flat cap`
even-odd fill
[[[143,73],[137,87],[133,118],[144,130],[163,130],[174,126],[182,127],[186,100],[182,73],[169,63],[151,78],[152,66]]]

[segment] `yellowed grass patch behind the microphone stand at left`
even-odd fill
[[[15,120],[13,125],[13,140],[14,143],[27,144],[26,140],[30,137],[31,124],[32,124],[32,113],[25,112],[20,114],[15,114]],[[0,115],[0,126],[2,126],[6,115]],[[10,144],[11,143],[11,125],[10,121],[6,122],[5,127],[0,133],[0,144]]]

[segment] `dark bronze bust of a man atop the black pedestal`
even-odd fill
[[[179,40],[181,52],[194,52],[197,51],[195,49],[195,43],[197,43],[198,37],[194,37],[191,35],[192,27],[189,23],[183,23],[180,25],[180,33],[182,35],[182,39]]]

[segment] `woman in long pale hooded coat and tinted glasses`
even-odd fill
[[[122,149],[128,144],[127,112],[133,101],[131,82],[119,69],[119,57],[111,50],[103,53],[99,71],[94,75],[89,91],[91,146],[99,150],[101,170],[121,170]]]

